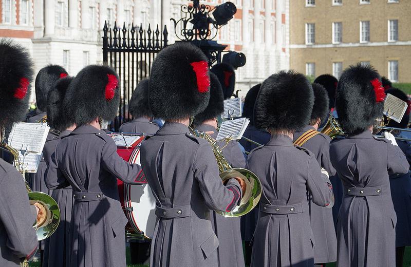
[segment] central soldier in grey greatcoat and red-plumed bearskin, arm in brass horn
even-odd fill
[[[157,202],[152,267],[218,266],[210,209],[232,211],[242,196],[242,180],[224,186],[210,144],[188,128],[189,118],[207,107],[209,88],[207,57],[196,46],[176,43],[153,62],[150,106],[165,123],[140,150]]]

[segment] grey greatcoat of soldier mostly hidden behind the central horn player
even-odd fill
[[[207,132],[213,131],[210,136],[217,138],[217,130],[207,124],[201,124],[196,127],[196,130]],[[220,148],[226,145],[226,142],[217,143]],[[245,168],[246,159],[242,154],[237,141],[231,141],[222,149],[224,158],[230,163],[233,168]],[[244,253],[242,252],[240,217],[226,218],[218,213],[211,211],[211,224],[214,233],[218,238],[218,266],[220,267],[241,267],[245,266]]]

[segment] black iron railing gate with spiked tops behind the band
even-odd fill
[[[117,27],[114,23],[113,29],[103,28],[103,63],[116,70],[120,77],[120,106],[118,116],[111,127],[118,131],[120,125],[132,119],[128,113],[128,101],[130,100],[137,83],[150,75],[151,64],[157,53],[167,46],[168,32],[166,26],[162,32],[159,27],[155,31],[148,28],[145,30],[135,27]]]

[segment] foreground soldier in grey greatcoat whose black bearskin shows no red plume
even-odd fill
[[[303,74],[280,71],[261,84],[254,119],[258,128],[271,132],[271,140],[247,160],[264,193],[251,266],[314,265],[307,193],[315,204],[330,206],[332,187],[315,155],[292,143],[294,131],[309,123],[312,106],[313,91]]]

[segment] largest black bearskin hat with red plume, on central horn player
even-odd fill
[[[206,55],[196,46],[178,42],[161,50],[150,73],[150,108],[154,117],[189,118],[203,111],[210,99]]]

